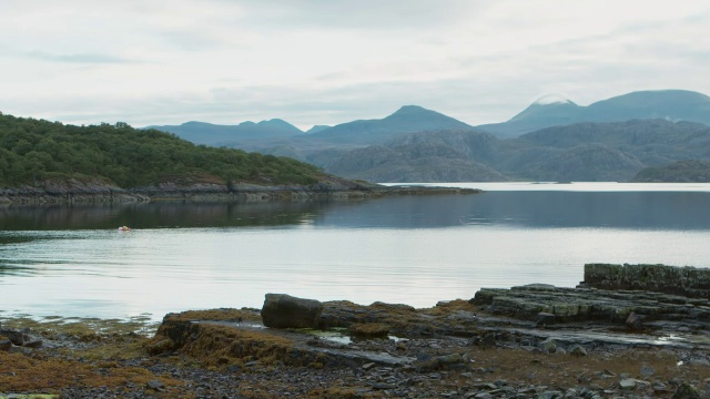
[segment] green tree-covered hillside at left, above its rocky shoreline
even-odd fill
[[[92,177],[124,188],[184,177],[219,183],[313,184],[324,176],[298,161],[195,145],[125,123],[64,125],[0,113],[0,187]]]

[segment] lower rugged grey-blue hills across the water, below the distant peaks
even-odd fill
[[[678,160],[710,160],[710,126],[635,120],[548,127],[499,140],[475,131],[398,135],[386,143],[306,160],[376,182],[617,181]]]

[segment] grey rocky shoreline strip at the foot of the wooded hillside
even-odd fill
[[[121,188],[97,181],[69,178],[38,186],[0,188],[0,204],[104,204],[149,201],[270,202],[312,200],[366,200],[392,195],[476,194],[478,190],[450,187],[388,187],[333,177],[311,186],[164,182],[138,188]]]

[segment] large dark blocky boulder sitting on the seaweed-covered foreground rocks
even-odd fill
[[[262,307],[264,326],[273,328],[316,328],[323,304],[286,294],[266,294]]]

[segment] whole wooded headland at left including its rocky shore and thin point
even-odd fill
[[[0,204],[339,201],[478,192],[349,181],[293,158],[195,145],[122,122],[74,126],[0,114]]]

